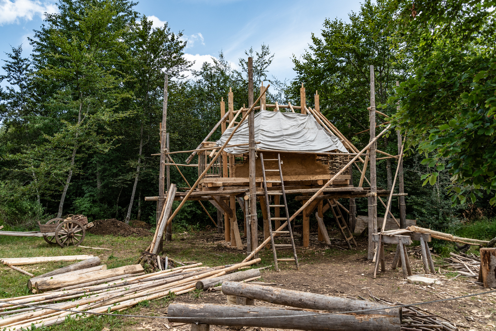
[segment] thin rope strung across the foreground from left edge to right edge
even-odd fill
[[[454,297],[454,298],[446,298],[446,299],[440,299],[440,300],[434,300],[434,301],[426,301],[426,302],[419,302],[419,303],[412,303],[409,305],[398,305],[398,306],[391,306],[391,308],[403,308],[403,307],[411,307],[411,306],[420,306],[420,305],[425,305],[428,303],[436,303],[436,302],[443,302],[443,301],[449,301],[449,300],[456,300],[456,299],[463,299],[463,298],[468,298],[468,297],[473,297],[477,295],[482,295],[482,294],[488,294],[488,293],[494,293],[496,290],[492,291],[487,291],[487,292],[481,292],[481,293],[475,293],[475,294],[468,294],[464,295],[461,297]],[[144,316],[144,315],[123,315],[123,314],[109,314],[109,313],[94,313],[94,312],[82,312],[82,311],[77,311],[77,310],[67,310],[67,309],[59,309],[59,308],[48,308],[48,307],[40,307],[40,306],[33,306],[33,305],[24,305],[20,303],[11,303],[8,301],[0,301],[0,303],[6,303],[6,304],[15,304],[16,306],[23,306],[23,307],[32,307],[32,308],[37,308],[37,309],[48,309],[48,310],[56,310],[60,312],[70,312],[70,313],[82,313],[82,314],[92,314],[92,315],[105,315],[105,316],[121,316],[121,317],[140,317],[140,318],[152,318],[152,319],[168,319],[170,317],[167,316]],[[383,310],[384,308],[371,308],[371,309],[362,309],[362,310],[352,310],[352,311],[347,311],[347,312],[335,312],[335,313],[314,313],[314,314],[308,314],[307,316],[310,315],[318,315],[318,316],[323,316],[323,315],[335,315],[335,314],[351,314],[351,313],[363,313],[363,312],[370,312],[370,311],[375,311],[375,310]],[[14,311],[13,311],[14,312]],[[253,319],[265,319],[265,318],[288,318],[288,317],[300,317],[301,315],[287,315],[287,316],[257,316],[257,317],[224,317],[222,318],[223,320],[253,320]],[[200,323],[197,321],[201,321],[202,318],[197,318],[197,317],[174,317],[174,318],[180,318],[182,320],[189,320],[193,321],[196,324]]]

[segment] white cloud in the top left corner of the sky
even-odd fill
[[[52,2],[39,0],[0,0],[0,25],[19,23],[19,19],[32,20],[45,12],[58,12],[57,5]]]

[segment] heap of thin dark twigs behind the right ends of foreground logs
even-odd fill
[[[370,294],[369,295],[372,300],[377,303],[383,303],[386,305],[404,305],[401,302],[391,302],[386,299],[379,299],[376,296]],[[366,300],[361,297],[362,300]],[[433,314],[425,309],[420,307],[403,307],[402,310],[402,319],[401,319],[401,331],[457,331],[458,326],[466,328],[461,324],[455,324],[437,314]]]

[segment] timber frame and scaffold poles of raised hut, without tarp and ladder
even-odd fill
[[[221,119],[212,131],[205,137],[205,139],[198,145],[198,147],[189,151],[171,152],[169,150],[169,134],[166,134],[166,130],[164,129],[167,116],[166,76],[166,84],[164,86],[164,124],[161,125],[161,153],[152,154],[160,155],[161,159],[159,197],[145,197],[145,200],[157,201],[157,229],[159,228],[158,224],[160,222],[166,222],[165,227],[167,228],[167,232],[165,239],[170,240],[172,220],[184,205],[186,200],[199,200],[200,203],[202,200],[209,201],[218,210],[217,223],[210,216],[210,214],[208,214],[208,211],[203,204],[202,207],[205,212],[207,212],[212,222],[217,226],[218,232],[224,233],[225,240],[230,242],[232,247],[243,250],[245,246],[242,242],[242,237],[239,231],[239,220],[236,218],[236,205],[239,204],[244,213],[244,219],[241,222],[244,227],[243,234],[244,238],[246,238],[246,247],[248,252],[248,257],[244,261],[248,261],[252,258],[257,258],[257,252],[260,249],[264,247],[269,248],[269,241],[271,239],[270,237],[272,232],[284,232],[280,230],[287,226],[288,222],[291,224],[293,231],[301,233],[299,238],[301,239],[301,244],[303,247],[309,247],[310,215],[315,211],[315,209],[315,216],[317,217],[319,223],[318,240],[325,241],[327,244],[330,244],[325,225],[323,224],[323,213],[330,209],[338,224],[338,227],[341,229],[343,237],[347,241],[348,246],[351,248],[351,241],[348,241],[348,239],[352,239],[353,236],[347,238],[347,235],[344,233],[343,229],[349,227],[351,229],[349,233],[351,234],[353,232],[357,220],[355,199],[367,197],[369,230],[368,258],[369,260],[372,260],[376,245],[376,243],[372,240],[372,234],[377,233],[377,199],[379,199],[384,207],[386,207],[386,203],[384,203],[384,201],[380,198],[381,196],[388,196],[388,206],[390,205],[391,197],[398,196],[400,204],[399,221],[390,211],[389,215],[392,217],[398,228],[405,228],[406,214],[404,197],[406,194],[404,193],[403,184],[401,135],[398,133],[398,155],[390,155],[376,149],[377,139],[384,132],[389,130],[390,124],[387,125],[382,132],[377,135],[375,134],[375,129],[376,127],[378,128],[375,120],[376,114],[386,118],[387,115],[375,110],[373,66],[371,66],[370,77],[371,105],[368,108],[370,115],[370,129],[366,130],[370,132],[370,140],[368,145],[362,150],[359,150],[356,146],[354,146],[353,143],[351,143],[341,132],[339,132],[339,130],[320,112],[319,95],[317,91],[315,91],[314,95],[314,109],[307,107],[305,87],[303,84],[300,89],[300,106],[295,106],[291,103],[288,103],[288,105],[279,105],[277,102],[276,104],[267,104],[265,102],[265,91],[270,84],[268,86],[263,86],[263,82],[262,86],[260,86],[258,98],[253,102],[254,92],[252,59],[248,58],[248,108],[243,107],[236,111],[233,106],[234,95],[233,92],[230,91],[228,94],[227,112],[225,101],[222,98],[220,102]],[[337,136],[341,140],[342,144],[348,150],[348,153],[343,153],[339,150],[330,150],[325,153],[313,153],[289,150],[264,150],[257,148],[256,145],[259,142],[255,141],[254,136],[254,112],[256,110],[273,110],[274,112],[277,112],[280,111],[280,109],[288,109],[293,113],[299,111],[301,114],[313,116],[322,129],[326,130],[331,135]],[[224,151],[224,148],[240,146],[240,144],[230,145],[229,141],[244,121],[248,121],[249,139],[246,143],[241,145],[248,146],[248,152],[238,155],[229,154]],[[383,124],[388,124],[388,122]],[[210,136],[219,127],[221,128],[222,133],[224,133],[227,129],[234,128],[222,146],[216,146],[216,142],[208,141]],[[178,153],[191,153],[186,159],[186,164],[178,164],[174,162],[173,156]],[[280,207],[283,205],[281,204],[282,199],[280,199],[281,183],[278,181],[279,176],[273,176],[274,178],[272,178],[270,174],[267,174],[267,181],[265,183],[262,176],[262,168],[259,158],[260,153],[263,153],[264,159],[272,160],[278,159],[278,155],[280,155],[280,159],[282,161],[281,164],[285,194],[296,196],[295,199],[302,201],[303,204],[302,207],[300,207],[293,215],[285,215],[285,217],[280,217]],[[377,153],[383,154],[384,156],[376,158]],[[189,164],[195,154],[198,155],[198,164]],[[397,194],[377,188],[375,171],[376,161],[386,158],[394,158],[398,160],[396,174],[398,175],[399,192]],[[175,166],[180,173],[181,171],[179,167],[181,166],[197,167],[198,179],[193,185],[189,185],[186,178],[183,176],[188,188],[178,188],[178,190],[186,190],[186,192],[174,193],[174,200],[179,200],[181,203],[174,212],[171,212],[172,210],[165,212],[166,216],[164,217],[162,215],[165,211],[164,201],[166,200],[169,192],[169,190],[164,190],[165,178],[167,178],[167,189],[169,189],[170,166]],[[367,167],[370,169],[370,180],[365,176]],[[166,169],[167,176],[165,176]],[[361,173],[359,183],[353,183],[353,171],[359,171]],[[364,187],[364,181],[368,184],[368,187]],[[264,183],[266,184],[268,192],[273,195],[273,200],[271,199],[271,201],[266,201],[263,185]],[[394,186],[392,191],[394,191]],[[344,202],[342,200],[342,202],[339,202],[339,199],[349,199],[349,201]],[[259,202],[263,215],[263,240],[260,244],[257,230],[259,224],[256,213],[257,202]],[[270,204],[271,207],[274,207],[273,216],[267,215],[268,208],[266,204]],[[346,208],[344,204],[348,204],[348,208]],[[336,208],[336,210],[334,208]],[[282,209],[284,212],[284,208]],[[341,213],[341,211],[343,211],[343,213]],[[347,224],[344,219],[345,217],[343,216],[344,212],[349,215],[347,217]],[[224,217],[222,217],[222,215]],[[301,225],[296,225],[295,220],[297,217],[302,219]],[[269,219],[271,218],[273,220],[275,219],[274,224],[272,224],[272,222],[269,224]],[[341,218],[342,223],[338,221],[338,218]],[[281,220],[286,220],[286,222],[281,224]],[[384,221],[384,224],[385,223],[386,222]],[[344,226],[342,227],[341,224]],[[275,226],[275,230],[271,230],[272,226]],[[302,228],[301,231],[298,229],[300,227]],[[162,225],[162,228],[164,228],[164,225]],[[162,235],[162,233],[160,235]],[[275,234],[274,236],[278,235],[279,234]]]

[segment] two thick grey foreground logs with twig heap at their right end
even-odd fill
[[[230,281],[222,284],[222,292],[228,299],[236,297],[235,301],[228,300],[233,305],[173,303],[168,308],[169,322],[191,323],[193,331],[208,330],[209,325],[229,325],[237,330],[239,327],[314,331],[458,330],[451,321],[422,308],[395,307],[403,304],[374,296],[372,302],[363,297],[341,298]],[[254,306],[254,300],[286,307]]]

